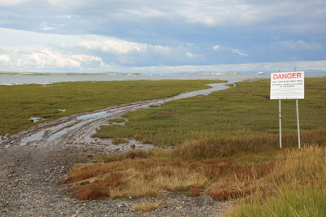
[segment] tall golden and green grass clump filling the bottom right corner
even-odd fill
[[[325,143],[305,145],[280,155],[272,172],[259,179],[234,180],[229,189],[247,186],[251,194],[234,208],[238,216],[324,216],[326,213]],[[238,188],[238,189],[240,189]],[[215,189],[217,191],[217,189]],[[243,194],[244,189],[238,191]],[[238,196],[237,195],[237,196]]]

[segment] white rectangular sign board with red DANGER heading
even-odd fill
[[[270,99],[305,99],[305,72],[270,74]]]

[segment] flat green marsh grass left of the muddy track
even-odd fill
[[[39,122],[109,106],[160,99],[197,89],[216,80],[97,81],[0,85],[0,135],[17,133]],[[66,111],[59,111],[65,109]]]

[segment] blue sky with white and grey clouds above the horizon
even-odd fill
[[[0,71],[326,70],[324,0],[0,0]]]

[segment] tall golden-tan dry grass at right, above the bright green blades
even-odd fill
[[[305,145],[302,149],[287,149],[276,161],[270,161],[251,174],[234,174],[228,180],[214,183],[208,194],[216,200],[247,197],[262,200],[277,195],[282,189],[326,186],[326,147]]]

